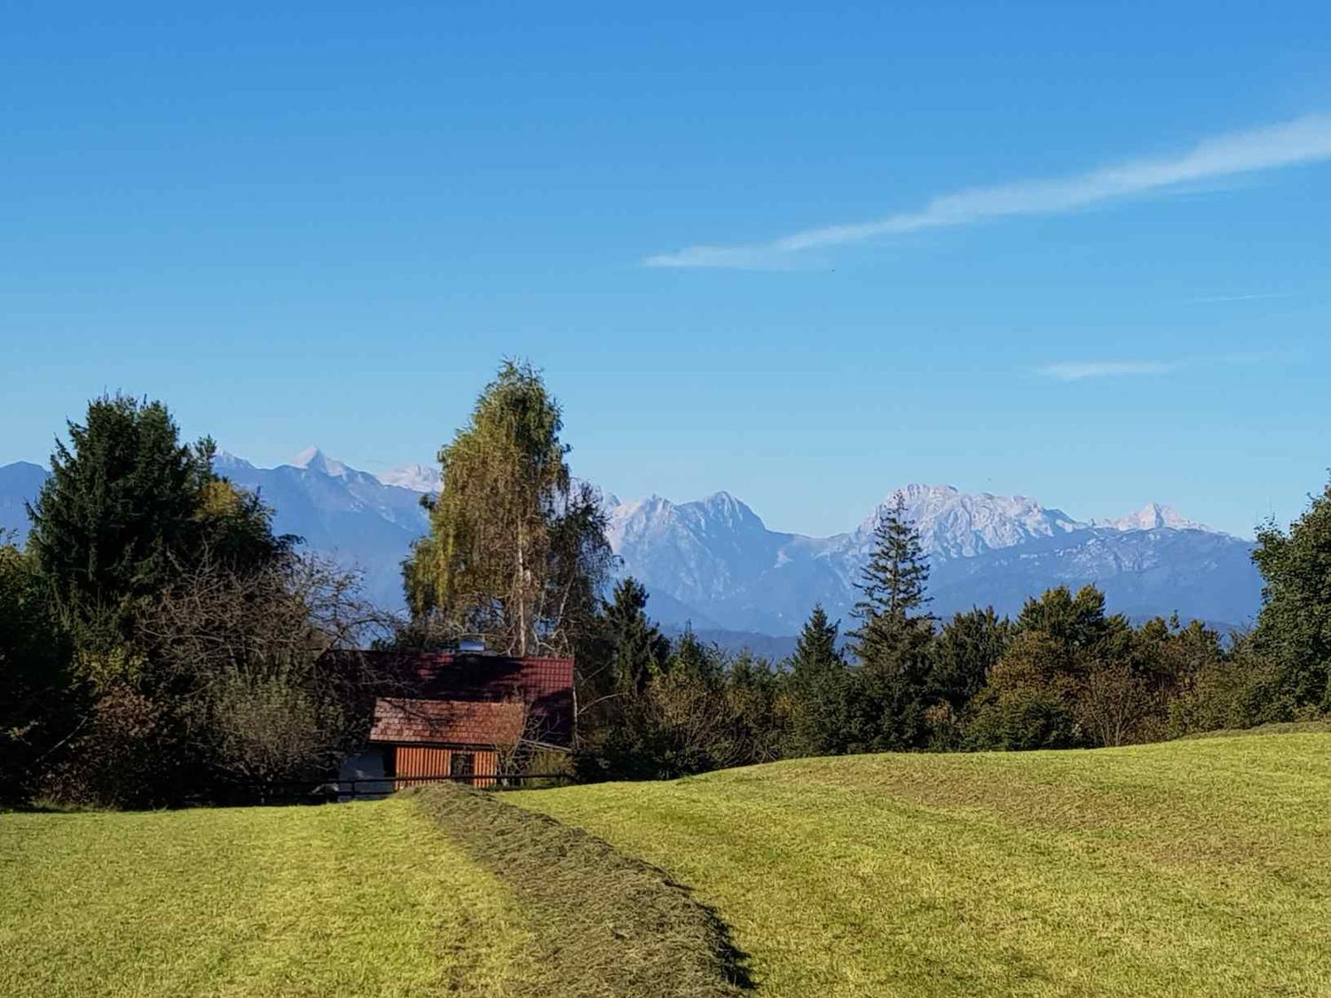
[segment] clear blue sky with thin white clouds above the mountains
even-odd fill
[[[626,7],[7,8],[0,462],[124,390],[381,471],[522,355],[777,528],[1324,483],[1323,4]]]

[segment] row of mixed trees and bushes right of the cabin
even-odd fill
[[[889,508],[843,636],[815,607],[768,664],[685,633],[667,641],[646,592],[607,607],[612,692],[584,724],[587,777],[675,777],[857,752],[1102,748],[1331,715],[1331,488],[1288,532],[1259,535],[1266,601],[1250,632],[1109,613],[1093,585],[1026,600],[1016,619],[928,612],[928,564]],[[1311,584],[1310,584],[1311,583]],[[1288,621],[1298,627],[1288,627]],[[588,677],[588,681],[592,677]]]

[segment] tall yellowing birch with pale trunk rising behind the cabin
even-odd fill
[[[508,655],[574,651],[614,555],[595,491],[570,475],[562,430],[540,373],[506,361],[439,451],[430,534],[403,564],[418,629]]]

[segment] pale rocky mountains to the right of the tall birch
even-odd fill
[[[715,627],[789,635],[815,601],[848,617],[873,528],[898,494],[929,555],[940,615],[977,604],[1012,613],[1050,585],[1087,583],[1105,589],[1113,609],[1135,616],[1177,611],[1239,625],[1260,603],[1248,542],[1154,503],[1094,524],[1026,496],[912,484],[886,495],[853,531],[809,538],[768,531],[725,492],[680,504],[651,496],[611,507],[610,540],[623,571],[673,607],[695,608]]]

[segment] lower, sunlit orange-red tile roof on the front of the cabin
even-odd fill
[[[427,745],[512,745],[522,737],[526,705],[520,700],[374,701],[370,741]]]

